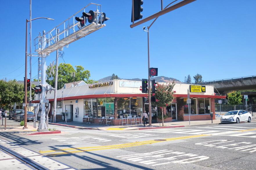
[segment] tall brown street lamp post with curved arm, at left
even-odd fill
[[[25,45],[25,83],[24,83],[24,90],[25,90],[25,95],[24,95],[24,103],[25,103],[25,106],[24,106],[24,128],[23,129],[28,129],[27,128],[27,43],[28,43],[28,22],[30,21],[30,24],[31,24],[31,21],[33,20],[36,20],[36,19],[40,19],[40,18],[44,18],[44,19],[47,19],[47,20],[54,20],[54,19],[51,19],[51,18],[45,18],[45,17],[39,17],[39,18],[35,18],[35,19],[31,19],[31,20],[28,20],[26,19],[26,45]],[[31,45],[31,27],[30,27],[30,45]],[[31,48],[30,48],[30,61],[31,61]],[[31,62],[30,62],[30,81],[31,81]],[[31,86],[30,86],[30,99],[31,99]]]

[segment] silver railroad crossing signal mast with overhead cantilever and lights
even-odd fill
[[[89,12],[87,12],[87,7],[94,8],[94,10],[89,10]],[[81,17],[78,17],[78,15]],[[89,22],[88,25],[86,25],[86,19]],[[39,34],[39,36],[34,39],[35,51],[39,55],[40,63],[42,63],[39,64],[38,68],[38,73],[41,70],[42,82],[39,86],[33,88],[36,94],[41,94],[41,99],[39,99],[39,95],[37,95],[35,99],[40,100],[39,106],[41,109],[39,112],[41,113],[41,118],[38,127],[39,131],[48,129],[46,125],[46,106],[49,106],[49,101],[46,100],[46,94],[48,91],[51,93],[51,90],[56,90],[56,88],[48,87],[46,85],[46,57],[49,56],[50,53],[63,47],[68,47],[70,43],[105,27],[106,24],[104,24],[104,21],[107,20],[109,20],[109,18],[107,18],[106,14],[101,11],[101,5],[90,3],[60,25],[54,27],[47,33],[43,31],[42,36]],[[56,111],[56,108],[54,110]]]

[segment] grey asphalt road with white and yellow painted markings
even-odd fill
[[[1,132],[18,145],[77,169],[255,169],[256,121],[154,130]]]

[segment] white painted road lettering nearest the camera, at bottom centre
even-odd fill
[[[185,152],[172,151],[167,149],[142,154],[122,155],[116,157],[151,166],[164,165],[170,163],[192,163],[201,160],[206,160],[209,158],[208,156],[187,154]]]

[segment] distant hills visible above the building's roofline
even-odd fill
[[[120,78],[120,77],[118,77],[118,78],[120,80],[142,81],[139,78],[134,78],[134,79],[123,79],[123,78]],[[106,81],[109,81],[110,79],[111,79],[111,76],[108,76],[108,77],[104,77],[104,78],[98,80],[98,82],[106,82]],[[156,82],[172,83],[173,80],[174,80],[175,83],[182,83],[181,81],[179,81],[177,79],[170,78],[170,77],[165,77],[165,76],[151,77],[150,80],[152,80],[152,79],[155,79]]]

